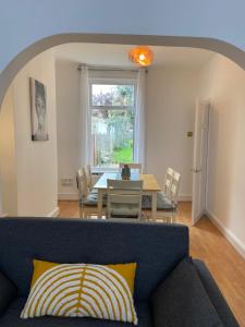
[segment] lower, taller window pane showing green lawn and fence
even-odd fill
[[[94,166],[117,167],[133,162],[134,112],[102,109],[91,114],[91,154]]]

